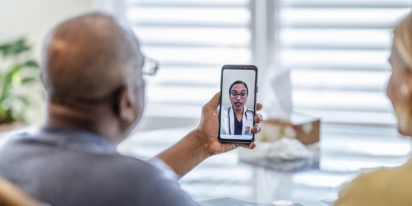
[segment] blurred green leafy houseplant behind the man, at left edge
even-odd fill
[[[0,124],[26,122],[34,84],[38,84],[38,63],[30,56],[24,38],[0,45]]]

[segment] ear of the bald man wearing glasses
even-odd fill
[[[122,121],[135,122],[138,112],[135,93],[129,87],[123,87],[117,95],[117,114]]]

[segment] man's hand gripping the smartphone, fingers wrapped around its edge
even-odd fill
[[[196,128],[196,133],[198,133],[199,140],[203,141],[205,146],[205,151],[211,155],[217,155],[223,152],[227,152],[238,148],[239,146],[244,148],[253,149],[256,144],[252,142],[251,144],[231,144],[231,143],[220,143],[218,141],[219,132],[219,111],[218,106],[220,102],[220,93],[216,93],[213,98],[202,108],[201,123],[198,128]],[[256,105],[256,110],[262,109],[262,104],[258,103]],[[262,122],[260,115],[255,115],[255,122]],[[253,133],[257,134],[260,132],[258,126],[253,126]]]

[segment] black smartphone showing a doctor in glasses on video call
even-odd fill
[[[220,78],[219,134],[222,143],[255,141],[256,94],[258,67],[224,65]]]

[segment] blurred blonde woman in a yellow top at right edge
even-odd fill
[[[393,34],[387,95],[398,117],[399,132],[411,137],[412,14],[396,26]],[[397,168],[359,175],[341,190],[335,206],[343,205],[412,205],[412,159]]]

